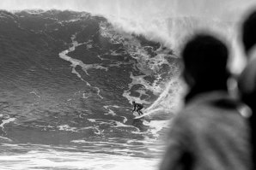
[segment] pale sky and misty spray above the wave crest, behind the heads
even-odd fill
[[[6,10],[70,9],[103,15],[119,30],[143,34],[177,51],[188,35],[206,28],[228,38],[234,56],[241,56],[240,21],[253,7],[255,0],[0,0],[0,9]]]

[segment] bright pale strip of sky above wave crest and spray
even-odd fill
[[[255,0],[1,0],[0,9],[72,9],[120,17],[197,15],[235,20]]]

